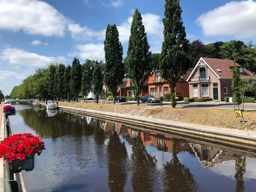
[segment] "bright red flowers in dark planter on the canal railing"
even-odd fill
[[[14,134],[0,143],[0,158],[12,162],[14,173],[31,171],[35,165],[35,154],[40,155],[44,149],[44,142],[39,137],[30,133]]]

